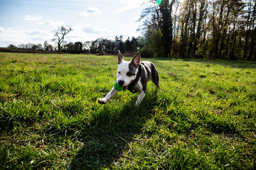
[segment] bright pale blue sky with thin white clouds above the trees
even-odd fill
[[[137,20],[146,0],[0,0],[0,46],[54,45],[52,31],[71,26],[65,41],[140,36]]]

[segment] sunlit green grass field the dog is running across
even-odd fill
[[[97,103],[116,56],[0,53],[0,169],[256,168],[255,62],[142,60],[161,89],[136,108]]]

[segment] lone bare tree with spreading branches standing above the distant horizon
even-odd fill
[[[70,31],[72,31],[71,27],[66,28],[64,26],[61,26],[56,31],[53,31],[54,38],[52,39],[52,41],[54,41],[58,45],[58,52],[60,52],[61,50],[61,43],[63,43],[65,36]]]

